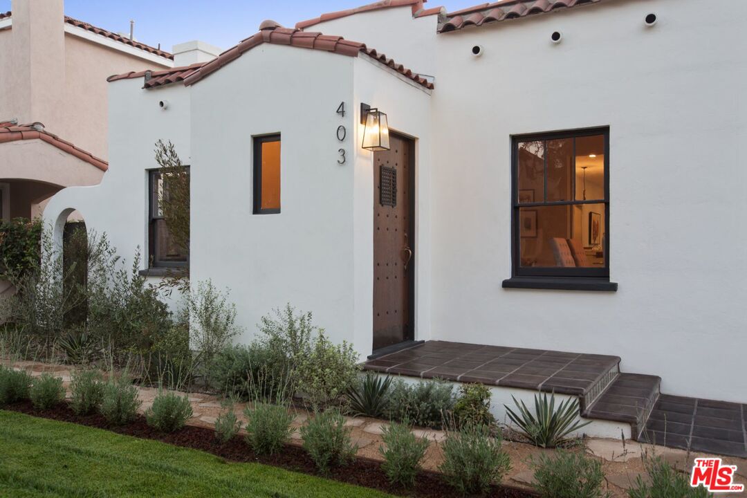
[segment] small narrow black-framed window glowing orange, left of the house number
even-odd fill
[[[280,212],[280,135],[254,138],[254,214]]]

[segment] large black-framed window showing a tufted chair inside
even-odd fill
[[[609,281],[609,144],[609,128],[512,138],[514,277]]]

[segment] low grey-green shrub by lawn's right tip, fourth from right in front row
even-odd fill
[[[411,487],[421,468],[420,462],[428,449],[428,441],[415,438],[407,424],[396,422],[383,429],[382,440],[385,446],[379,446],[379,452],[384,457],[381,467],[389,482]]]

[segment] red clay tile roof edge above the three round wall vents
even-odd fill
[[[488,22],[526,17],[577,5],[595,4],[599,1],[601,0],[501,0],[492,4],[480,4],[447,13],[445,21],[439,23],[438,32],[447,33],[467,26],[481,26]]]

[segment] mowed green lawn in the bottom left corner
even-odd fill
[[[0,497],[371,497],[261,464],[0,410]]]

